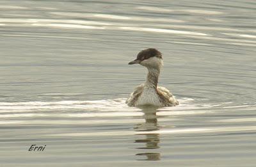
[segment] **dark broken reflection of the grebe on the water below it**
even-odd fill
[[[144,107],[142,108],[142,112],[144,113],[145,123],[138,123],[134,126],[135,131],[143,131],[145,134],[140,134],[144,136],[142,139],[135,139],[134,143],[145,143],[143,147],[138,147],[138,149],[156,149],[159,148],[159,134],[152,133],[147,134],[148,131],[157,131],[159,130],[159,126],[157,124],[157,108],[156,107]],[[160,153],[158,152],[142,152],[136,155],[145,155],[147,159],[138,159],[138,160],[146,160],[146,161],[158,161],[160,160]]]

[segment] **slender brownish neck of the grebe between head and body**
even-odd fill
[[[148,68],[145,86],[147,86],[148,88],[154,88],[156,90],[159,74],[160,68]]]

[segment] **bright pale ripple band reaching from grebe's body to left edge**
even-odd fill
[[[128,107],[126,99],[113,100],[62,100],[57,102],[0,102],[0,112],[49,111],[58,109],[83,109],[85,111],[140,111],[138,108]]]

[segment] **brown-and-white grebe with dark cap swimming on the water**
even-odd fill
[[[153,105],[159,107],[177,106],[179,102],[164,87],[157,86],[158,77],[163,66],[161,52],[157,49],[145,49],[138,53],[136,60],[129,62],[129,65],[137,64],[147,67],[148,74],[144,84],[135,88],[126,104],[130,107]]]

